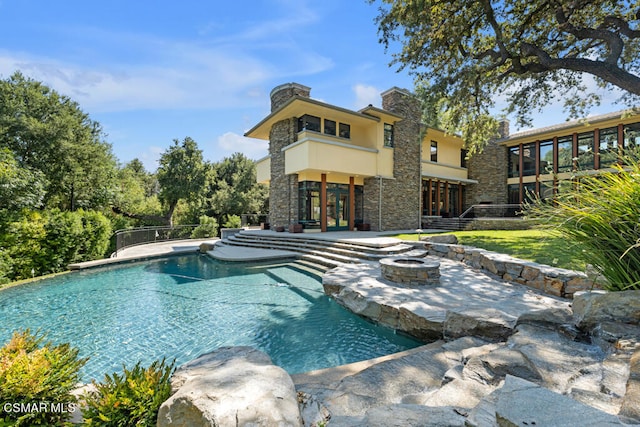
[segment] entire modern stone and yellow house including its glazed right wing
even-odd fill
[[[354,111],[287,83],[245,136],[269,141],[258,181],[269,184],[272,228],[401,230],[457,217],[476,205],[552,195],[576,173],[597,173],[640,146],[640,119],[622,113],[509,135],[466,159],[461,138],[421,123],[418,100],[393,87],[382,108]],[[300,227],[300,225],[302,227]]]

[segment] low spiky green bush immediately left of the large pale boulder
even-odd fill
[[[171,375],[175,360],[155,361],[148,368],[140,362],[123,374],[105,375],[96,391],[84,395],[84,421],[96,426],[155,426],[160,405],[171,395]]]

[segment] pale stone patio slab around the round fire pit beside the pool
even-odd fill
[[[384,279],[377,262],[327,271],[325,294],[350,311],[427,342],[479,336],[502,340],[530,311],[568,309],[570,301],[491,277],[457,261],[440,263],[440,283],[410,286]]]

